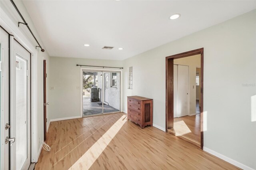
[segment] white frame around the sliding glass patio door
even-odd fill
[[[110,71],[110,72],[111,71],[112,72],[113,71],[120,72],[120,112],[122,112],[122,99],[123,99],[123,96],[122,96],[122,89],[123,89],[122,70],[121,69],[94,69],[94,68],[84,68],[84,67],[81,67],[80,68],[80,109],[81,109],[80,117],[83,117],[83,95],[82,95],[82,93],[83,93],[83,79],[82,79],[83,71],[102,71],[103,73],[104,72],[108,72],[108,71]],[[103,75],[102,75],[102,77],[103,77]],[[102,83],[104,83],[104,79],[103,78],[102,78]],[[103,88],[104,88],[104,84],[103,84]],[[102,101],[102,103],[104,103],[104,101]],[[108,113],[105,113],[105,114],[108,114]],[[97,116],[97,115],[92,115],[92,116]],[[100,115],[102,115],[102,114],[100,114]]]

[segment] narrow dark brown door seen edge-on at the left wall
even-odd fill
[[[46,127],[47,127],[47,119],[46,119],[46,106],[47,106],[47,101],[46,101],[46,60],[44,60],[44,141],[46,140]]]

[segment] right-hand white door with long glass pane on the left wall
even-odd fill
[[[30,166],[30,53],[10,39],[10,169]]]

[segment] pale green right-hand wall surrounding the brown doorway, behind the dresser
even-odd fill
[[[124,60],[127,96],[154,99],[153,123],[165,128],[165,57],[204,47],[204,146],[256,168],[256,122],[251,96],[256,82],[256,10]],[[133,66],[133,89],[128,67]]]

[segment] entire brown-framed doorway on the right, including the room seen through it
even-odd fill
[[[203,148],[204,49],[166,57],[166,132]]]

